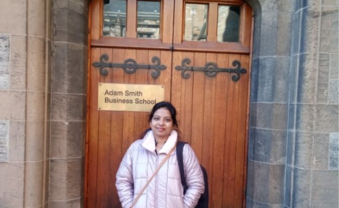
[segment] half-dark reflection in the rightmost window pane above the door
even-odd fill
[[[219,5],[218,42],[239,42],[239,6]]]

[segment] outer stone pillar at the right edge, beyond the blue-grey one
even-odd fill
[[[338,207],[338,1],[296,0],[285,205]]]

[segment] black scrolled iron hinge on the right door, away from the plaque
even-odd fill
[[[190,77],[189,74],[185,74],[186,71],[199,71],[204,72],[207,76],[216,76],[219,72],[228,72],[228,73],[235,73],[236,75],[232,76],[233,81],[238,81],[240,79],[240,74],[247,73],[247,70],[241,68],[241,63],[238,60],[233,60],[232,65],[237,66],[235,69],[230,68],[219,68],[218,65],[214,62],[208,62],[205,64],[204,67],[193,67],[188,66],[191,63],[191,60],[186,58],[183,59],[181,62],[181,66],[176,66],[175,69],[181,71],[181,76],[184,79],[188,79]]]

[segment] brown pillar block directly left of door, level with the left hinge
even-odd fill
[[[86,94],[87,48],[81,45],[55,43],[53,59],[53,92]]]

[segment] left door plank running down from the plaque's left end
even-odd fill
[[[108,62],[113,61],[113,51],[110,48],[102,48],[100,54],[108,55]],[[112,82],[112,69],[107,68],[106,76],[100,75],[100,82]],[[97,100],[97,98],[95,99]],[[108,179],[109,179],[109,153],[111,133],[111,112],[99,111],[98,127],[98,170],[97,170],[97,192],[96,207],[108,208]]]

